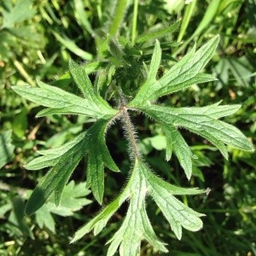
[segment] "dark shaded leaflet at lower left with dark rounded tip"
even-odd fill
[[[55,204],[59,205],[65,184],[85,154],[88,154],[87,187],[91,187],[96,200],[102,203],[104,165],[113,172],[119,172],[105,142],[108,122],[109,120],[99,119],[88,131],[84,131],[71,142],[65,143],[59,148],[39,151],[39,154],[44,155],[26,165],[26,168],[30,170],[53,166],[34,189],[26,205],[26,214],[32,214],[42,207],[54,191]]]

